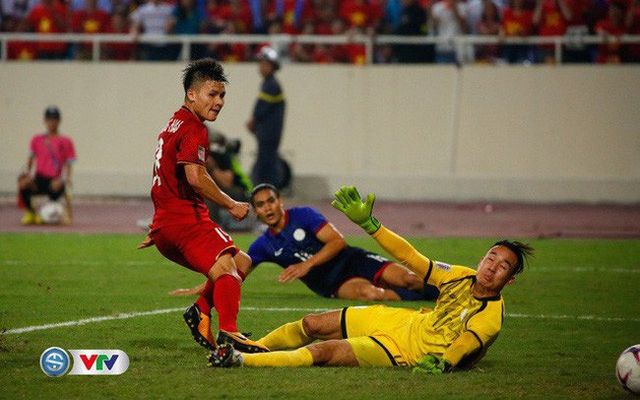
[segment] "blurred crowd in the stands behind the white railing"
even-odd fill
[[[305,34],[450,37],[601,35],[599,45],[563,46],[563,62],[640,61],[640,0],[0,0],[2,32],[129,34],[129,43],[103,43],[108,60],[176,60],[181,44],[143,43],[147,34]],[[92,44],[9,40],[9,59],[90,59]],[[253,60],[260,44],[191,45],[191,58]],[[306,44],[279,49],[293,62],[366,62],[362,44]],[[498,43],[455,49],[435,45],[377,45],[376,63],[460,61],[554,62],[554,46]]]

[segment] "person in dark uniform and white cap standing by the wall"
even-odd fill
[[[254,183],[271,183],[282,188],[283,171],[278,154],[284,128],[285,99],[276,72],[280,69],[278,53],[265,46],[258,54],[260,75],[264,78],[247,129],[256,136],[258,155],[251,178]]]

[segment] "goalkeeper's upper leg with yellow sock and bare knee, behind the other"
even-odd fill
[[[309,314],[284,324],[258,340],[270,350],[297,349],[316,339],[341,339],[341,310]]]

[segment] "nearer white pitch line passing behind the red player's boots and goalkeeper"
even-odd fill
[[[178,311],[183,311],[184,307],[180,308],[165,308],[160,310],[151,310],[151,311],[139,311],[139,312],[131,312],[131,313],[121,313],[116,315],[105,315],[102,317],[92,317],[79,319],[76,321],[65,321],[58,322],[53,324],[45,324],[45,325],[33,325],[26,326],[24,328],[14,328],[7,329],[6,331],[0,332],[2,335],[15,335],[18,333],[27,333],[34,331],[42,331],[48,329],[56,329],[63,328],[66,326],[79,326],[85,324],[91,324],[94,322],[102,322],[102,321],[113,321],[118,319],[129,319],[129,318],[137,318],[144,317],[147,315],[158,315],[158,314],[168,314]],[[243,307],[242,311],[259,311],[259,312],[322,312],[328,311],[327,308],[297,308],[297,307]],[[524,319],[551,319],[551,320],[576,320],[576,321],[604,321],[604,322],[640,322],[640,318],[623,318],[623,317],[598,317],[595,315],[531,315],[531,314],[507,314],[507,317],[510,318],[524,318]]]

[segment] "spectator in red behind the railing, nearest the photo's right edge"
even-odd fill
[[[596,62],[598,64],[620,64],[624,49],[620,43],[620,35],[625,33],[624,4],[618,1],[611,2],[608,14],[606,19],[600,20],[596,24],[596,33],[604,39],[604,43],[598,46]]]

